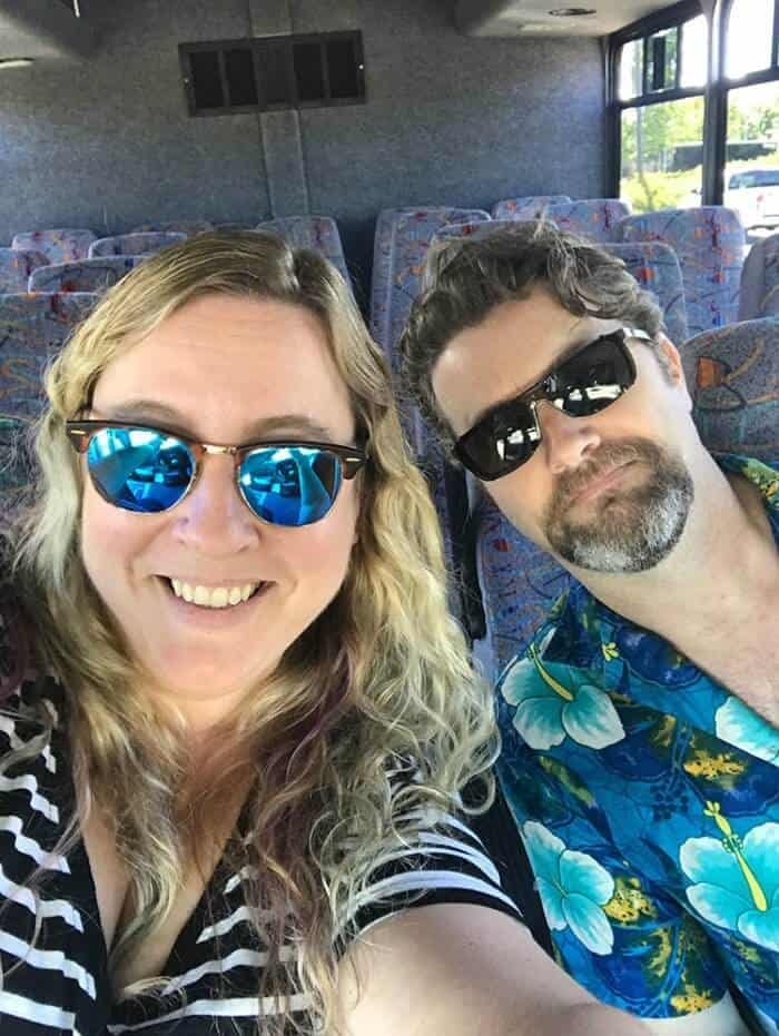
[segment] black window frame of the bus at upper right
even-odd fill
[[[681,0],[673,7],[635,21],[608,38],[607,43],[607,191],[610,196],[620,196],[622,164],[622,112],[629,108],[643,108],[665,101],[681,100],[687,97],[703,97],[703,161],[701,182],[701,204],[721,205],[724,197],[724,168],[727,165],[728,135],[728,95],[730,90],[755,86],[763,82],[779,81],[779,0],[773,0],[773,26],[771,41],[772,65],[767,69],[748,72],[746,76],[729,78],[726,76],[726,48],[728,45],[728,24],[730,13],[737,0],[717,0],[711,16],[707,17],[709,34],[709,68],[704,87],[679,88],[682,67],[682,36],[680,28],[677,60],[677,86],[669,90],[647,90],[647,52],[649,39],[663,29],[706,14],[698,0]],[[637,39],[644,40],[643,51],[643,92],[639,97],[621,100],[620,56],[625,43]]]

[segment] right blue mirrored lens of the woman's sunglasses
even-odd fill
[[[274,525],[323,519],[341,489],[341,461],[317,446],[263,446],[240,465],[240,491],[257,517]]]

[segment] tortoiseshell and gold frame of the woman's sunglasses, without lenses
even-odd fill
[[[155,432],[158,435],[168,436],[169,438],[177,438],[179,442],[190,451],[195,458],[195,466],[193,471],[193,476],[189,480],[187,489],[181,493],[179,499],[171,504],[169,507],[166,507],[164,511],[131,511],[131,514],[166,514],[168,511],[172,511],[174,507],[177,507],[183,500],[191,493],[195,485],[197,484],[198,478],[200,477],[200,472],[203,471],[203,458],[207,453],[210,454],[227,454],[234,457],[235,460],[235,473],[236,473],[236,485],[238,487],[238,493],[240,499],[244,501],[248,510],[252,512],[252,516],[255,517],[258,522],[263,522],[266,525],[278,526],[279,529],[304,529],[306,525],[315,525],[316,522],[321,522],[323,519],[333,510],[336,496],[333,497],[333,503],[327,509],[325,514],[321,519],[316,519],[314,522],[304,522],[302,525],[284,525],[280,522],[269,522],[267,519],[260,517],[254,507],[249,504],[246,495],[244,494],[244,487],[240,484],[240,465],[244,463],[246,456],[257,450],[268,448],[268,447],[296,447],[303,446],[310,450],[322,450],[327,453],[334,454],[338,458],[341,464],[341,474],[343,478],[351,480],[354,478],[359,468],[367,463],[368,454],[365,450],[361,450],[358,446],[343,446],[338,443],[322,443],[322,442],[309,442],[307,440],[258,440],[253,443],[245,443],[240,446],[231,445],[219,445],[216,443],[199,443],[196,440],[188,438],[186,435],[181,435],[180,432],[170,432],[167,428],[160,428],[157,425],[142,424],[137,421],[66,421],[65,432],[68,436],[70,445],[77,453],[86,454],[89,448],[89,443],[93,435],[98,432],[102,432],[106,428],[137,428],[141,432]],[[89,470],[89,464],[87,464],[87,470]],[[109,504],[115,507],[119,507],[116,501],[111,500],[106,493],[103,493],[96,481],[91,477],[90,481],[95,486],[95,490],[99,495]],[[126,509],[119,507],[120,511]]]

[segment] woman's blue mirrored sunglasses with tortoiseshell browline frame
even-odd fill
[[[69,421],[66,432],[73,448],[87,455],[100,496],[140,514],[175,507],[197,482],[204,454],[226,453],[235,458],[238,492],[256,517],[272,525],[312,525],[329,512],[343,478],[354,478],[367,461],[355,446],[294,441],[216,446],[121,421]]]

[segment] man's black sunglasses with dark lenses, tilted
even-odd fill
[[[546,401],[569,417],[590,417],[619,399],[635,381],[627,338],[650,342],[635,327],[602,335],[553,367],[514,399],[489,411],[454,444],[457,460],[477,478],[492,482],[529,461],[541,442],[536,406]]]

